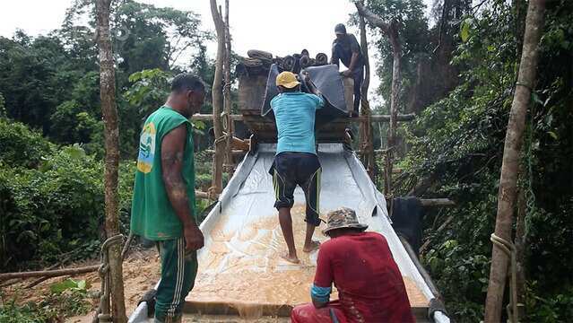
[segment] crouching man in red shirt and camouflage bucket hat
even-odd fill
[[[365,232],[356,213],[342,208],[328,214],[317,273],[310,289],[312,304],[295,307],[293,323],[414,322],[404,280],[386,238]],[[339,300],[330,301],[332,284]]]

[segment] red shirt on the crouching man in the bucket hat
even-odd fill
[[[351,322],[414,322],[402,274],[381,234],[346,234],[320,246],[315,285],[333,283]]]

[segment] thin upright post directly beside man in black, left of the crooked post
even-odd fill
[[[360,1],[364,3],[363,0]],[[360,115],[365,118],[360,122],[360,150],[364,152],[362,155],[362,163],[368,171],[370,179],[374,181],[376,175],[376,158],[374,155],[374,144],[372,142],[372,120],[370,118],[370,104],[368,100],[368,90],[370,84],[370,62],[368,54],[368,40],[366,39],[366,22],[364,17],[359,15],[360,19],[360,48],[362,49],[362,56],[364,57],[364,82],[360,89]]]

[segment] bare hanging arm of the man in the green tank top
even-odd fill
[[[191,214],[187,185],[181,175],[183,170],[183,153],[187,142],[187,126],[181,125],[171,130],[161,141],[161,170],[163,184],[169,197],[169,202],[183,223],[186,249],[203,247],[203,234]]]

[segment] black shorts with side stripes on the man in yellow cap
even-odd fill
[[[274,207],[291,208],[294,205],[294,189],[297,185],[304,191],[307,200],[307,223],[318,226],[318,199],[320,195],[320,162],[314,153],[279,153],[274,157],[269,173],[273,175]]]

